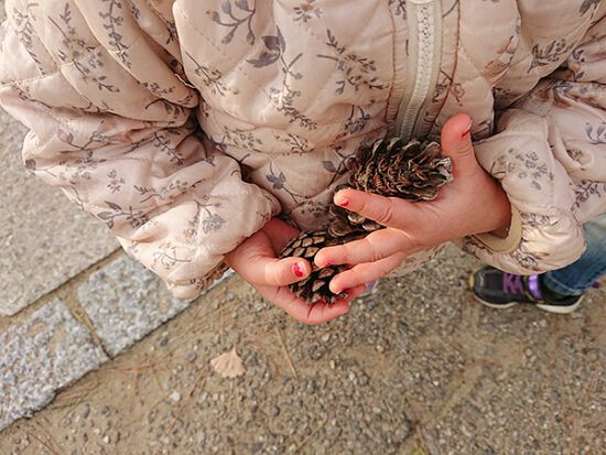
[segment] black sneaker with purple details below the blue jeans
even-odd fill
[[[550,291],[540,275],[516,275],[485,267],[469,277],[474,296],[491,308],[508,308],[517,303],[528,303],[551,312],[572,313],[581,304],[583,295],[561,295]]]

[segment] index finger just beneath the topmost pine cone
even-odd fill
[[[357,189],[342,189],[333,198],[334,203],[348,210],[356,212],[378,224],[403,229],[407,219],[414,217],[419,208],[404,199],[383,197]]]

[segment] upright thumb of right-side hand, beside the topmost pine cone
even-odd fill
[[[451,117],[442,128],[442,156],[453,160],[455,180],[475,173],[478,166],[470,131],[472,118],[466,113]]]

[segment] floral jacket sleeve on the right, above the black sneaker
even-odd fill
[[[585,249],[583,223],[606,212],[606,19],[558,71],[506,109],[475,144],[512,205],[509,235],[463,247],[512,273],[560,269]]]

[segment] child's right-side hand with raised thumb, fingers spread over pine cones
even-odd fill
[[[509,199],[476,161],[470,124],[470,118],[459,113],[442,130],[442,154],[453,160],[454,182],[442,186],[436,199],[410,203],[355,189],[335,194],[335,204],[387,227],[365,239],[320,250],[315,256],[318,267],[355,266],[331,281],[333,292],[383,277],[413,252],[509,225]]]

